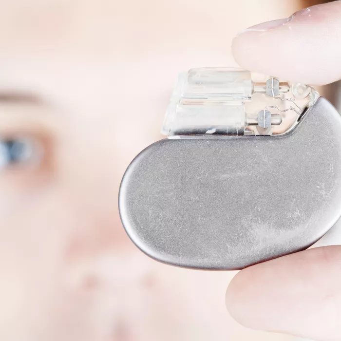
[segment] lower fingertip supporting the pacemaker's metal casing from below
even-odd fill
[[[241,324],[313,340],[341,340],[341,246],[318,247],[239,272],[227,308]]]

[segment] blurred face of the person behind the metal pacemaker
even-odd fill
[[[178,72],[236,66],[239,30],[299,8],[0,1],[1,340],[250,338],[225,312],[232,275],[147,258],[121,226],[117,193],[132,158],[160,138]]]

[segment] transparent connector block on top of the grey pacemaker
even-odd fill
[[[318,97],[309,85],[246,70],[191,69],[178,78],[162,133],[169,138],[283,135]]]

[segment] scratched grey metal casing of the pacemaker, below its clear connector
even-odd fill
[[[171,265],[240,269],[305,249],[341,215],[341,117],[320,98],[286,137],[156,142],[119,208],[136,246]]]

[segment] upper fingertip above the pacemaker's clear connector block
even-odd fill
[[[232,42],[246,70],[323,85],[341,79],[341,1],[242,31]]]

